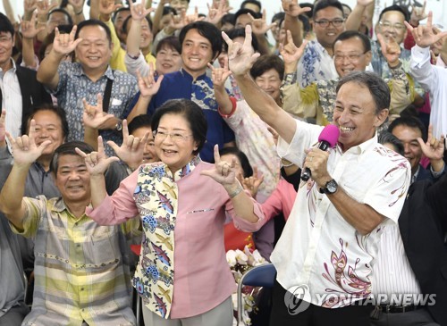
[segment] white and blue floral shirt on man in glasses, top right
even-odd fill
[[[298,62],[298,83],[305,88],[311,83],[322,79],[338,77],[333,57],[316,40],[308,42],[304,54]]]

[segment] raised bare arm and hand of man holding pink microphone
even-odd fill
[[[296,122],[288,113],[274,102],[272,96],[258,88],[255,81],[249,75],[249,69],[257,60],[259,54],[255,54],[251,47],[251,27],[245,27],[245,40],[243,45],[232,42],[231,38],[223,32],[223,39],[228,44],[229,68],[238,82],[240,91],[245,100],[263,120],[266,121],[288,143],[291,142],[296,130]]]

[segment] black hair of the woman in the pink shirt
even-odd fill
[[[200,152],[207,141],[207,118],[200,106],[186,98],[166,101],[156,109],[156,112],[152,116],[152,131],[158,129],[158,125],[164,114],[179,114],[188,121],[190,130],[192,131],[192,137],[198,143],[198,148],[193,154],[198,155],[198,152]]]

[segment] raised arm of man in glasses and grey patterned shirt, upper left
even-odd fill
[[[59,84],[59,73],[57,69],[63,61],[66,54],[72,51],[80,44],[82,38],[74,39],[76,34],[76,25],[73,26],[70,34],[61,34],[57,27],[55,28],[55,41],[50,53],[46,55],[40,66],[38,67],[38,81],[45,84],[46,87],[55,90]]]

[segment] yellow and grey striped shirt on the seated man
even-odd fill
[[[22,325],[135,325],[126,237],[139,220],[100,226],[62,198],[24,197],[23,231],[35,241],[34,297]]]

